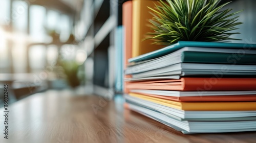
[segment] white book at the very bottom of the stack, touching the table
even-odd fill
[[[256,131],[256,121],[224,121],[224,122],[196,122],[179,121],[165,114],[142,108],[136,105],[130,105],[131,110],[142,113],[154,120],[172,127],[184,134],[189,133],[223,133],[223,132],[241,132]]]

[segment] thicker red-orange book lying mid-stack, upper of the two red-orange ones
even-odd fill
[[[129,89],[211,91],[211,90],[256,90],[256,78],[181,78],[130,82]]]

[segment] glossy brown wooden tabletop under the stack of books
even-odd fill
[[[256,132],[185,135],[123,109],[122,100],[54,90],[34,94],[8,107],[9,139],[0,109],[0,142],[256,142]]]

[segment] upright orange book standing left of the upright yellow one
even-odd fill
[[[123,17],[123,28],[124,28],[124,63],[123,69],[126,69],[128,59],[132,58],[132,17],[133,17],[133,2],[127,1],[123,3],[122,8],[122,17]],[[124,75],[124,78],[128,78],[129,76]],[[126,82],[124,82],[124,93],[128,93],[129,91],[126,88]]]

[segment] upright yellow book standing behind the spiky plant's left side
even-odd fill
[[[146,0],[133,0],[133,29],[132,29],[132,57],[152,52],[164,47],[164,45],[151,44],[154,41],[144,40],[146,33],[154,32],[147,25],[150,24],[148,21],[153,16],[150,14],[150,9],[147,7],[154,8],[155,4],[158,5],[157,1],[146,1]]]

